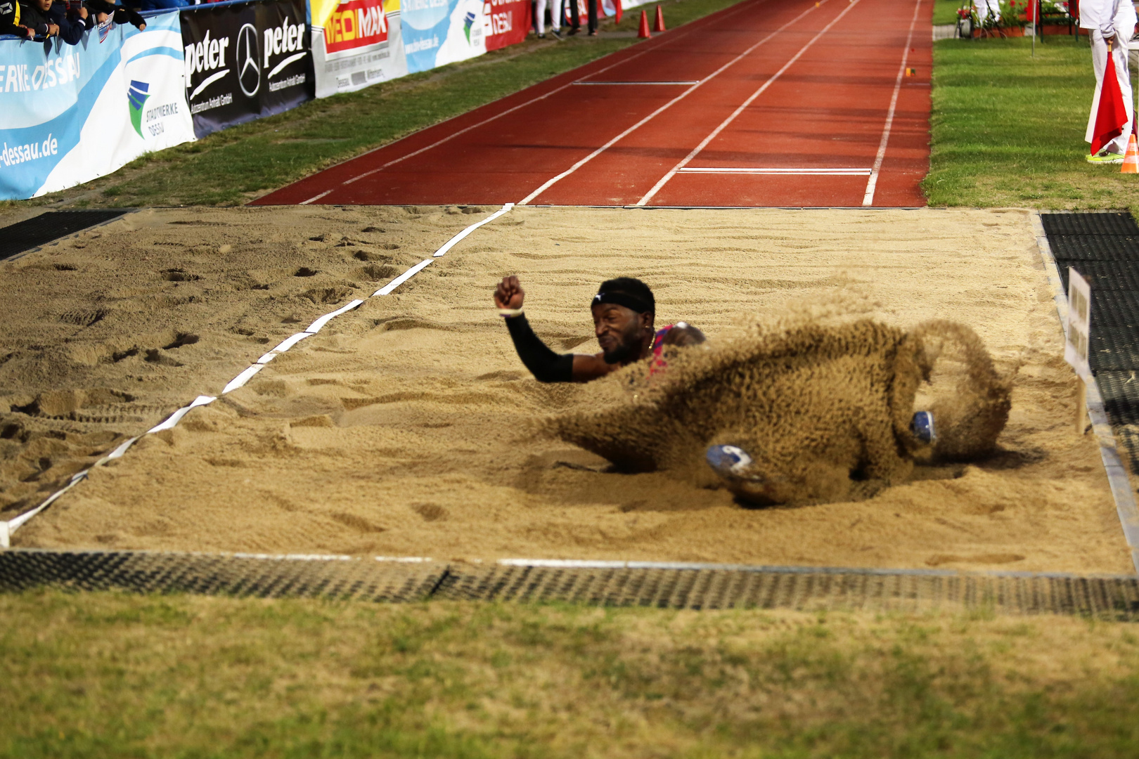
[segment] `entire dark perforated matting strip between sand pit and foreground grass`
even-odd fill
[[[0,592],[35,587],[361,601],[659,609],[1081,614],[1139,620],[1139,577],[784,568],[552,568],[131,551],[0,552]]]

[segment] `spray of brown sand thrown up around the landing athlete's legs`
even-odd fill
[[[916,459],[991,452],[1010,387],[967,327],[932,321],[906,332],[814,316],[678,349],[663,374],[642,364],[615,372],[590,388],[588,410],[549,420],[547,431],[620,470],[727,486],[755,504],[826,503],[907,481]],[[918,407],[937,423],[933,446],[909,429],[919,389]],[[721,480],[704,462],[713,444],[744,448],[752,465]]]

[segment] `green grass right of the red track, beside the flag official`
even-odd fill
[[[934,46],[933,206],[1136,208],[1139,181],[1083,160],[1095,89],[1085,38]]]

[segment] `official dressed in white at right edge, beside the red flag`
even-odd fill
[[[1088,30],[1091,38],[1091,65],[1096,69],[1096,94],[1091,100],[1091,115],[1088,117],[1088,131],[1084,142],[1091,142],[1096,129],[1096,113],[1099,110],[1099,90],[1104,81],[1104,68],[1107,66],[1107,43],[1112,43],[1112,58],[1115,61],[1115,75],[1123,92],[1123,104],[1128,109],[1128,124],[1123,133],[1108,142],[1097,154],[1088,154],[1088,163],[1122,164],[1123,154],[1128,149],[1131,137],[1131,122],[1134,118],[1134,98],[1131,94],[1131,73],[1128,67],[1128,49],[1136,32],[1136,9],[1131,0],[1081,0],[1080,28]]]

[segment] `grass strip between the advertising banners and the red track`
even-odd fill
[[[670,28],[730,7],[738,0],[672,0],[661,3]],[[639,14],[604,31],[636,31]],[[359,92],[314,100],[298,108],[211,134],[139,158],[120,172],[31,201],[75,206],[171,206],[241,204],[417,130],[517,92],[550,76],[634,44],[636,39],[564,42],[531,36],[497,50]]]

